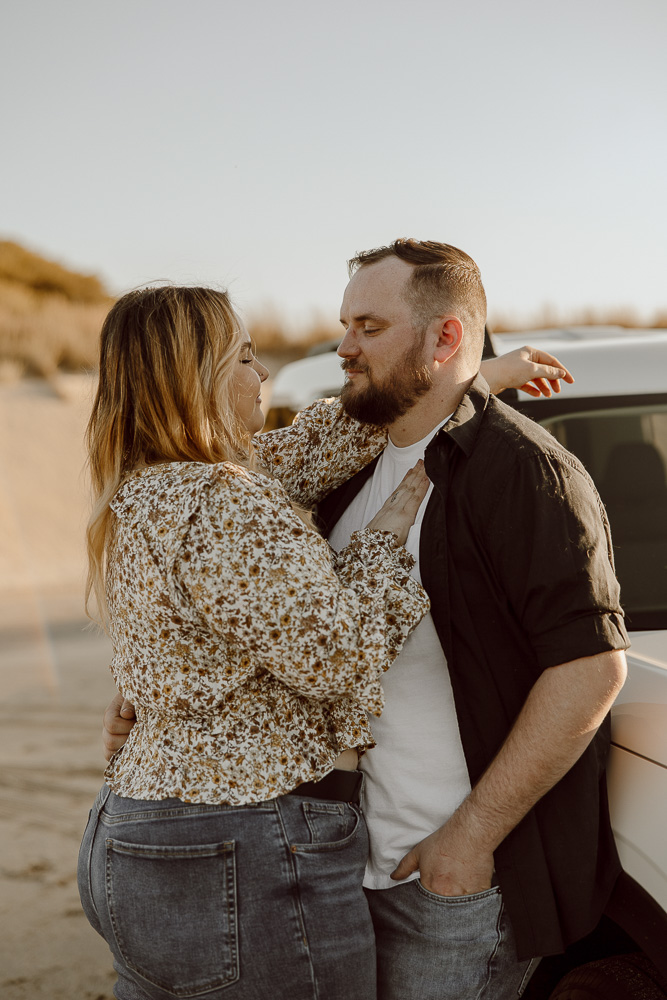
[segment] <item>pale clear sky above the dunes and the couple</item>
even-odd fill
[[[667,308],[665,0],[7,0],[0,238],[335,320],[453,243],[490,308]]]

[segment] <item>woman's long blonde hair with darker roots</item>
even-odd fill
[[[212,288],[129,292],[106,317],[86,435],[93,488],[89,614],[92,595],[106,619],[109,502],[129,472],[159,462],[249,463],[251,435],[237,415],[232,384],[244,342],[227,293]]]

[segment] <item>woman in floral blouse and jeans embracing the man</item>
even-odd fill
[[[224,293],[135,292],[105,322],[90,585],[138,723],[79,880],[119,998],[374,995],[349,769],[428,606],[398,544],[427,484],[413,470],[334,564],[261,467],[310,504],[384,437],[316,404],[253,449],[265,377]]]

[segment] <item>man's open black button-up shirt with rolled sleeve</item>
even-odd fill
[[[604,507],[581,463],[547,431],[478,376],[425,462],[434,489],[420,572],[474,784],[543,670],[629,643]],[[320,505],[325,531],[372,469]],[[608,746],[607,720],[495,852],[520,958],[563,951],[595,927],[609,898],[620,865]]]

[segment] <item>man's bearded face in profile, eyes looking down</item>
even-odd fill
[[[415,328],[402,295],[411,272],[410,264],[389,257],[360,268],[345,289],[341,402],[363,423],[393,423],[432,385],[425,331]]]

